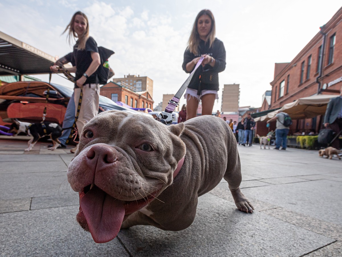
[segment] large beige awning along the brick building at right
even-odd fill
[[[329,100],[334,97],[338,97],[338,95],[313,95],[302,97],[294,102],[285,104],[278,110],[257,117],[254,121],[267,121],[273,118],[278,111],[288,113],[293,120],[314,118],[317,115],[325,114]]]

